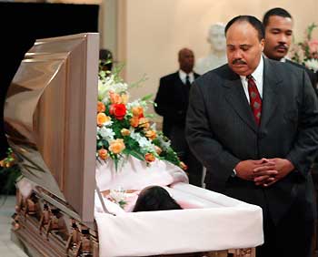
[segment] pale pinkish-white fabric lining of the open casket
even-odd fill
[[[261,208],[190,185],[184,171],[170,163],[158,160],[150,167],[143,167],[140,160],[129,158],[124,170],[115,171],[108,162],[98,164],[96,174],[102,191],[118,186],[124,190],[142,190],[160,185],[184,208],[127,212],[132,208],[124,211],[107,198],[103,198],[103,208],[96,197],[95,220],[103,256],[211,252],[252,248],[263,243]],[[135,200],[134,193],[128,193],[128,205]]]

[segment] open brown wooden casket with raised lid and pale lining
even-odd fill
[[[98,50],[94,33],[39,39],[9,87],[5,133],[24,175],[13,240],[30,256],[254,256],[261,208],[176,179],[180,170],[161,185],[198,208],[125,212],[104,198],[98,174],[113,171],[95,158]]]

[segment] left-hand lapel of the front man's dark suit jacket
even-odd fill
[[[225,80],[224,87],[227,87],[228,91],[225,94],[225,98],[230,106],[234,109],[237,115],[243,119],[243,121],[253,129],[257,131],[257,125],[253,118],[252,109],[247,101],[244,93],[241,78],[234,74],[233,71],[229,70],[231,78]]]

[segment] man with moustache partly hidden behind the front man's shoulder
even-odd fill
[[[285,58],[293,39],[292,15],[283,8],[270,9],[263,15],[263,26],[265,28],[264,55],[273,60],[304,68],[317,94],[317,75],[314,74],[313,70]]]

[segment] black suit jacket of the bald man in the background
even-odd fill
[[[194,78],[199,77],[194,73]],[[156,113],[164,117],[164,135],[169,136],[173,126],[185,127],[185,114],[189,97],[179,72],[160,78],[160,85],[154,99]]]

